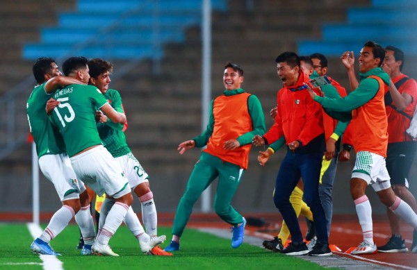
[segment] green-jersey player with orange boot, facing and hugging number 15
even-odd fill
[[[117,92],[117,90],[108,89],[108,85],[111,82],[110,74],[113,72],[113,65],[105,60],[95,58],[88,61],[88,67],[90,69],[91,76],[90,84],[97,87],[100,92],[104,94],[108,103],[110,103],[110,105],[117,110],[117,112],[124,113],[122,98],[119,92]],[[142,244],[142,238],[147,237],[147,235],[157,237],[156,207],[154,203],[154,195],[149,188],[149,176],[126,143],[124,130],[127,128],[127,123],[124,125],[113,123],[101,111],[96,112],[96,121],[101,142],[103,142],[104,147],[106,147],[106,149],[124,169],[131,189],[133,189],[136,193],[140,203],[142,204],[142,219],[145,224],[147,234],[145,234],[145,231],[140,225],[138,216],[133,212],[133,210],[131,210],[131,208],[129,209],[128,214],[126,214],[126,225],[138,239],[139,243]],[[101,205],[99,228],[101,228],[102,225],[101,221],[106,218],[106,214],[113,204],[113,199],[106,198]],[[163,249],[159,246],[155,246],[147,254],[163,256],[172,255],[172,253],[163,251]]]

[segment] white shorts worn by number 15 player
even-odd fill
[[[72,167],[79,178],[99,196],[104,193],[115,199],[128,194],[129,182],[120,164],[99,145],[70,158]]]

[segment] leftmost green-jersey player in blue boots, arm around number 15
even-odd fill
[[[75,216],[85,241],[81,254],[90,255],[95,232],[88,192],[71,167],[63,137],[56,128],[51,126],[45,112],[45,104],[51,98],[51,93],[59,87],[81,82],[61,76],[53,58],[39,58],[33,65],[33,75],[38,85],[35,86],[27,101],[28,124],[36,144],[40,169],[44,176],[54,184],[63,207],[55,212],[42,235],[31,244],[31,250],[33,253],[44,255],[59,255],[49,246],[49,242]]]

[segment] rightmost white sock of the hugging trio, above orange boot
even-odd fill
[[[158,216],[156,214],[154,194],[148,192],[140,196],[139,201],[142,203],[142,220],[146,228],[146,233],[151,236],[156,236]]]

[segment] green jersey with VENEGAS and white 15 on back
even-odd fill
[[[51,119],[63,134],[70,157],[84,149],[101,144],[96,128],[95,110],[107,100],[91,85],[68,85],[54,93],[60,104],[54,108]]]

